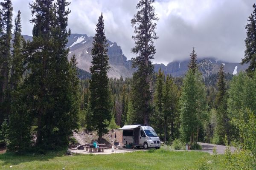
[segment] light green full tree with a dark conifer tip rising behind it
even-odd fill
[[[206,92],[198,70],[186,73],[180,97],[180,133],[184,142],[192,145],[198,140],[199,126],[203,123],[206,110]]]

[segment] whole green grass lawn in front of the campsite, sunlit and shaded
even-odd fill
[[[204,152],[148,150],[111,155],[66,156],[64,152],[46,155],[0,155],[0,169],[18,170],[183,170],[196,169],[195,162],[209,157]],[[12,165],[12,168],[10,166]]]

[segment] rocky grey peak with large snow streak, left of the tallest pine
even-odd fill
[[[75,54],[77,58],[78,68],[90,72],[92,61],[92,43],[93,37],[87,37],[85,34],[71,34],[68,38],[67,47],[70,48],[69,58]],[[121,47],[116,42],[108,40],[108,56],[109,65],[111,68],[108,71],[108,77],[132,77],[133,68],[131,68],[131,61],[127,61],[122,54]]]

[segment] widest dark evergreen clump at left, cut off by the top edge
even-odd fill
[[[24,83],[32,93],[32,114],[37,119],[36,145],[43,149],[66,146],[78,127],[78,79],[76,59],[68,62],[66,49],[67,16],[65,0],[35,0],[32,10],[33,41],[29,43]]]

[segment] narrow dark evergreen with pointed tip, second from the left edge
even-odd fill
[[[11,91],[11,113],[9,117],[9,145],[8,150],[22,152],[29,148],[31,144],[32,115],[29,113],[29,102],[26,100],[30,94],[26,85],[23,85],[24,73],[24,51],[26,42],[21,37],[20,11],[15,18],[15,31],[13,40],[13,57],[10,78]]]

